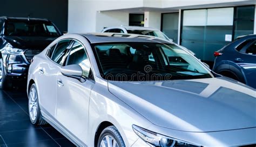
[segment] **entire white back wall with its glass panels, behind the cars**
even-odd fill
[[[144,14],[144,26],[158,28],[201,60],[212,62],[213,52],[237,36],[256,33],[256,13],[242,6],[256,11],[255,0],[69,0],[68,30],[100,32],[129,25],[129,14]]]

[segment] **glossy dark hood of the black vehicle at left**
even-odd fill
[[[43,50],[56,38],[41,36],[4,36],[4,39],[15,48]]]

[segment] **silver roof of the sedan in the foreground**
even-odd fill
[[[90,43],[102,42],[158,42],[170,43],[163,39],[154,36],[137,35],[137,34],[124,34],[124,33],[86,33],[82,34]]]

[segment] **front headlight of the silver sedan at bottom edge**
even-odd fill
[[[167,137],[164,135],[160,135],[154,133],[152,131],[146,130],[144,128],[138,127],[136,125],[132,125],[133,131],[143,139],[143,141],[154,145],[154,146],[198,146],[192,143],[188,143],[185,141],[181,141],[176,138]]]

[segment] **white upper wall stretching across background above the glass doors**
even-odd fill
[[[156,8],[167,8],[164,11],[171,11],[174,8],[183,9],[190,5],[242,2],[255,4],[255,0],[69,0],[68,31],[70,33],[99,32],[107,26],[129,25],[129,9],[142,8],[147,11],[145,14],[148,14],[145,26],[160,29],[161,14],[160,9]],[[152,9],[148,10],[149,8]],[[154,10],[159,12],[152,12]],[[256,26],[254,28],[256,29]]]

